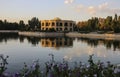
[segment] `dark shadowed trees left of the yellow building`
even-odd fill
[[[39,31],[40,21],[36,17],[28,20],[28,24],[25,24],[23,20],[20,20],[19,23],[0,20],[0,30]]]

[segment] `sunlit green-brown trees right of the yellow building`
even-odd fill
[[[75,27],[75,31],[78,32],[93,32],[93,31],[113,31],[115,33],[120,32],[120,16],[115,14],[114,17],[107,16],[106,18],[92,17],[88,21],[78,22]]]

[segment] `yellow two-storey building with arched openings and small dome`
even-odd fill
[[[75,21],[61,20],[58,17],[53,20],[41,20],[42,31],[72,32],[74,26]]]

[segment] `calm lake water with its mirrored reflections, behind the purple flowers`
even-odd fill
[[[7,71],[19,71],[24,62],[30,65],[37,59],[43,65],[50,60],[50,53],[55,55],[56,61],[62,61],[64,58],[70,63],[86,63],[89,55],[94,54],[95,61],[119,64],[120,41],[68,37],[38,38],[0,33],[0,54],[9,56]]]

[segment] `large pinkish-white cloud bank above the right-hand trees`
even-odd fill
[[[114,14],[120,13],[120,8],[110,8],[111,6],[108,2],[100,4],[98,6],[85,6],[82,4],[74,6],[76,12],[86,12],[90,15],[96,15],[100,13]]]

